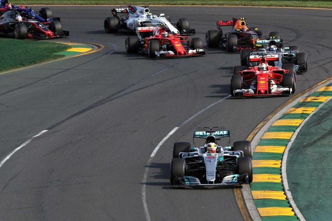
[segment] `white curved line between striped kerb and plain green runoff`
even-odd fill
[[[293,208],[294,212],[295,212],[295,215],[297,216],[297,218],[300,220],[300,221],[306,221],[306,219],[304,218],[304,216],[302,215],[300,209],[297,207],[294,199],[293,199],[293,196],[292,196],[292,193],[291,191],[289,190],[289,186],[288,186],[288,180],[287,180],[287,158],[288,158],[288,152],[289,152],[289,149],[291,147],[291,145],[293,144],[294,140],[296,139],[296,136],[297,134],[300,132],[300,130],[302,129],[302,127],[304,126],[304,124],[319,110],[321,109],[329,100],[331,100],[332,97],[330,97],[329,99],[327,99],[325,102],[323,102],[321,105],[319,105],[316,110],[314,110],[311,114],[309,114],[309,116],[304,120],[302,121],[302,123],[300,124],[300,126],[296,129],[296,131],[293,133],[292,137],[290,138],[287,146],[286,146],[286,149],[283,153],[283,156],[282,156],[282,161],[281,161],[281,180],[282,180],[282,185],[283,185],[283,189],[284,189],[284,192],[287,196],[287,199],[289,201],[289,204],[290,206]]]

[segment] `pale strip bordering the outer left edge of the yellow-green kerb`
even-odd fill
[[[324,86],[327,86],[329,84],[332,83],[332,80],[327,81],[315,88],[313,88],[310,91],[307,91],[306,93],[302,94],[300,97],[296,98],[295,100],[293,100],[291,103],[289,103],[288,105],[286,105],[284,108],[282,108],[275,116],[273,116],[262,128],[261,130],[259,130],[256,135],[254,136],[254,138],[251,141],[251,151],[252,153],[255,151],[255,148],[258,144],[258,142],[260,141],[260,139],[262,138],[262,136],[264,135],[264,133],[270,128],[270,126],[279,118],[281,117],[282,114],[284,114],[286,112],[286,110],[288,110],[289,108],[291,108],[292,106],[294,106],[296,103],[298,103],[301,99],[303,99],[304,97],[308,96],[309,94],[317,91],[319,88],[323,88]],[[250,185],[249,184],[245,184],[243,185],[243,188],[241,189],[242,192],[242,196],[244,199],[244,202],[246,204],[246,207],[248,209],[248,212],[250,214],[250,217],[252,220],[254,221],[261,221],[262,218],[258,213],[258,210],[256,208],[256,205],[254,203],[253,197],[251,195],[251,189],[250,189]],[[296,213],[295,213],[296,214]]]

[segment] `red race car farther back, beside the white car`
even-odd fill
[[[137,36],[128,36],[125,40],[127,53],[142,50],[149,58],[205,54],[200,38],[188,40],[187,36],[168,34],[165,27],[138,27],[136,32]]]

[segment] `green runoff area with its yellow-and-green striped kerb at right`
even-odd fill
[[[320,163],[323,161],[331,166],[331,161],[321,159],[328,154],[326,148],[329,146],[319,142],[323,136],[325,143],[332,139],[332,135],[324,130],[331,127],[331,116],[328,114],[331,98],[332,83],[314,90],[286,110],[259,140],[252,157],[253,182],[250,189],[263,221],[327,218],[325,214],[329,214],[329,209],[313,205],[308,194],[311,196],[314,188],[315,192],[322,193],[314,198],[324,198],[324,192],[328,191],[324,183],[331,181],[331,177],[322,176],[322,173],[329,173],[329,165]],[[319,113],[321,108],[323,114]],[[315,134],[317,130],[320,133]],[[315,175],[314,171],[320,173]],[[325,198],[321,204],[325,205],[328,201]],[[311,208],[310,212],[308,208]]]

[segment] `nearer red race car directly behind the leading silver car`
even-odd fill
[[[234,67],[230,94],[233,96],[271,96],[294,93],[294,64],[290,64],[293,66],[292,68],[281,69],[268,65],[267,58],[272,59],[270,55],[253,59],[260,61],[260,65],[257,67]]]

